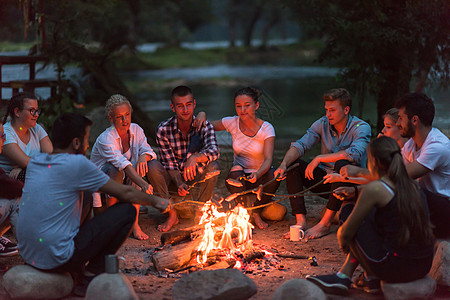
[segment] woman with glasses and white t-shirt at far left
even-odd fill
[[[36,123],[39,115],[37,97],[24,92],[11,97],[3,119],[6,141],[0,155],[0,167],[21,181],[25,181],[25,169],[31,156],[53,151],[47,133]],[[10,119],[6,122],[8,116]]]

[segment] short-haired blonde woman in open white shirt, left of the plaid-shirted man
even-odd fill
[[[147,143],[144,130],[131,123],[130,102],[122,95],[112,95],[106,102],[106,111],[112,126],[97,138],[92,147],[91,161],[111,179],[134,185],[143,192],[152,194],[153,187],[142,177],[146,176],[148,162],[156,159],[156,154]],[[94,206],[99,206],[95,202],[94,200]],[[106,206],[116,202],[115,198],[107,198]],[[133,205],[137,209],[133,236],[138,240],[146,240],[148,235],[138,224],[139,204]]]

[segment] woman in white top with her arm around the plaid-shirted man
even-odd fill
[[[272,157],[275,130],[269,122],[256,117],[260,97],[261,92],[255,88],[245,87],[238,90],[234,95],[237,116],[225,117],[211,122],[214,130],[228,131],[233,140],[234,162],[225,183],[230,193],[256,188],[274,178],[273,172],[275,169],[272,167]],[[197,118],[203,120],[206,119],[206,115],[200,113]],[[240,181],[242,186],[237,187],[229,184],[228,179],[230,178]],[[279,184],[278,181],[272,182],[264,188],[264,192],[275,193]],[[244,197],[240,198],[237,201],[245,201]],[[257,206],[268,203],[270,200],[271,196],[263,195],[261,201],[244,205],[247,207],[249,205]],[[261,209],[254,210],[253,219],[256,226],[264,229],[268,224],[261,219],[260,213]]]

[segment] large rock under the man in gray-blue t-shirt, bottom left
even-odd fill
[[[28,265],[11,268],[3,276],[3,287],[13,299],[59,299],[72,292],[69,273],[52,273]]]

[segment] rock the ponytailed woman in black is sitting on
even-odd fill
[[[381,290],[386,300],[428,299],[436,290],[436,281],[430,276],[406,283],[381,281]]]

